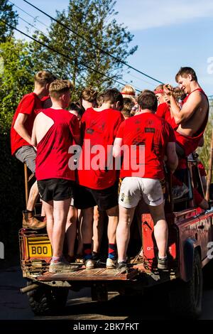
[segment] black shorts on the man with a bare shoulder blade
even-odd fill
[[[45,202],[50,200],[71,199],[75,183],[62,178],[48,178],[38,181],[40,199]]]

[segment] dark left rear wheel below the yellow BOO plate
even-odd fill
[[[32,281],[27,282],[27,285],[31,284]],[[68,292],[67,288],[43,285],[27,294],[31,309],[36,316],[50,316],[61,313],[65,308]]]

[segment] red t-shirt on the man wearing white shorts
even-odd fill
[[[122,138],[123,145],[129,148],[129,154],[124,149],[121,178],[164,178],[165,149],[168,142],[175,141],[174,131],[168,122],[151,112],[138,114],[121,124],[116,138]]]

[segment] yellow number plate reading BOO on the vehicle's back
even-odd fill
[[[28,237],[26,244],[27,257],[52,257],[52,247],[48,237]]]

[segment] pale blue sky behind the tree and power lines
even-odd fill
[[[49,19],[23,0],[11,0],[21,9],[49,24]],[[46,13],[66,9],[69,0],[29,0]],[[131,4],[131,5],[130,5]],[[21,17],[32,24],[33,18],[14,7]],[[175,85],[175,74],[181,66],[197,72],[200,85],[207,95],[213,95],[213,1],[212,0],[117,0],[116,20],[133,33],[132,45],[138,50],[128,58],[134,68],[163,82]],[[42,25],[36,23],[41,30]],[[26,31],[26,23],[19,28]],[[20,34],[18,38],[23,38]],[[211,59],[212,58],[212,59]],[[209,61],[209,63],[208,63]],[[209,68],[211,67],[211,70]],[[127,68],[125,68],[127,71]],[[138,89],[153,89],[158,83],[130,71],[123,79]]]

